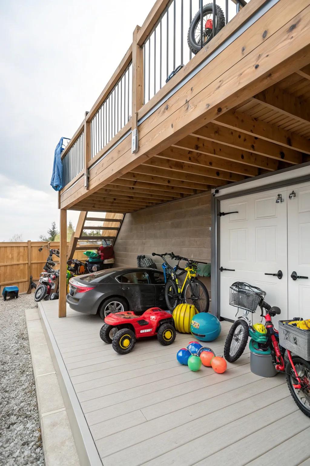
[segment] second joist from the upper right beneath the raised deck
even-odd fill
[[[302,123],[310,123],[309,103],[289,94],[277,85],[270,86],[256,94],[252,101],[262,103],[271,110],[276,110]]]

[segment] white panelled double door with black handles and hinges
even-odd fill
[[[236,212],[220,217],[220,267],[230,269],[220,272],[220,315],[235,318],[229,288],[244,281],[263,289],[265,301],[281,309],[274,322],[310,318],[309,182],[223,200],[220,211]],[[307,278],[293,280],[293,272]],[[260,320],[257,311],[253,322]]]

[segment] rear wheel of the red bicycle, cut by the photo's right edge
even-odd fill
[[[301,382],[306,379],[307,383],[305,384],[305,388],[294,388],[293,385],[297,384],[298,382],[295,378],[290,361],[286,364],[285,367],[286,382],[288,384],[290,394],[298,408],[300,411],[303,411],[303,414],[310,418],[310,363],[299,356],[292,356],[292,360]]]

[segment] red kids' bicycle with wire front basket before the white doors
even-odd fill
[[[291,321],[279,321],[277,331],[272,317],[279,315],[281,310],[265,302],[265,295],[263,290],[248,283],[237,281],[231,285],[229,303],[244,309],[244,313],[231,326],[225,341],[224,357],[231,363],[237,361],[250,335],[250,348],[271,354],[275,369],[286,374],[290,394],[298,408],[310,417],[310,330],[290,325]],[[265,319],[265,326],[260,324],[263,331],[257,331],[257,324],[253,326],[249,319],[249,314],[254,313],[257,307]],[[302,319],[293,319],[298,320]]]

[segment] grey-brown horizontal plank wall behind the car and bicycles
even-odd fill
[[[127,213],[114,244],[115,264],[135,267],[137,255],[173,251],[184,257],[211,261],[211,193]],[[161,260],[154,257],[159,270]],[[209,290],[210,279],[202,277]]]

